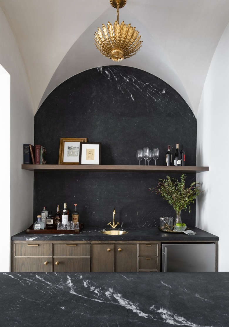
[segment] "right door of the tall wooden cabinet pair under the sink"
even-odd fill
[[[137,272],[137,244],[115,244],[115,272]]]

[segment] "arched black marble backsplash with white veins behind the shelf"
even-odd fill
[[[136,150],[158,147],[158,165],[167,146],[183,144],[186,165],[196,165],[196,118],[184,99],[167,83],[145,71],[106,66],[84,71],[59,85],[35,115],[34,144],[47,149],[47,164],[58,164],[60,138],[87,137],[101,142],[101,164],[137,165]],[[141,165],[143,165],[143,160]],[[150,165],[154,164],[153,160]],[[170,174],[180,178],[180,174]],[[113,219],[123,226],[158,226],[173,208],[148,191],[166,174],[118,172],[34,173],[34,219],[43,206],[56,212],[67,202],[70,215],[78,204],[80,222],[103,225]],[[187,185],[196,174],[187,174]],[[191,213],[183,221],[195,226]]]

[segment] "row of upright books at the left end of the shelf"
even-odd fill
[[[45,164],[46,148],[41,145],[24,144],[24,164]]]

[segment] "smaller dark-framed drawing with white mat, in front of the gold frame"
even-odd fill
[[[101,164],[101,143],[81,143],[79,164]]]

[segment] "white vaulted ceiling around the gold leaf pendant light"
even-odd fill
[[[116,20],[110,0],[0,0],[25,64],[34,112],[67,78],[124,65],[171,85],[198,112],[204,81],[229,22],[228,0],[127,0],[119,21],[142,36],[135,56],[116,63],[94,45],[97,27]]]

